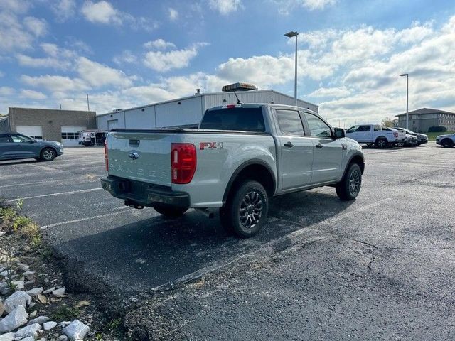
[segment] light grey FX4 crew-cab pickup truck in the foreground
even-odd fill
[[[193,207],[251,237],[267,220],[269,197],[333,186],[341,200],[360,191],[359,144],[316,112],[279,104],[208,109],[198,129],[114,130],[107,136],[102,188],[125,205],[178,217]]]

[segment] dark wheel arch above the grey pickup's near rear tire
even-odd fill
[[[275,193],[277,181],[274,177],[272,168],[265,161],[259,159],[250,160],[242,163],[239,167],[237,167],[235,172],[230,177],[228,185],[225,188],[225,193],[223,195],[223,205],[225,205],[226,201],[228,200],[232,188],[235,188],[235,185],[244,179],[250,179],[259,182],[264,186],[269,197]]]

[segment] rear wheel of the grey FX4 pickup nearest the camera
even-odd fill
[[[264,186],[257,181],[245,180],[220,210],[220,220],[228,231],[249,238],[262,229],[268,211],[269,197]]]

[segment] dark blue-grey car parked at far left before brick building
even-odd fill
[[[63,144],[55,141],[36,140],[14,133],[0,133],[0,160],[35,158],[42,161],[53,161],[63,154]]]

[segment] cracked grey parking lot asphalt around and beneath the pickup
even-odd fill
[[[102,148],[2,161],[0,197],[23,199],[48,242],[83,269],[81,285],[93,277],[132,296],[199,278],[166,304],[161,294],[144,302],[129,316],[137,335],[452,339],[455,148],[364,152],[357,200],[340,202],[333,188],[275,197],[269,222],[245,240],[194,211],[168,220],[124,207],[100,190]],[[158,315],[166,322],[146,323]]]

